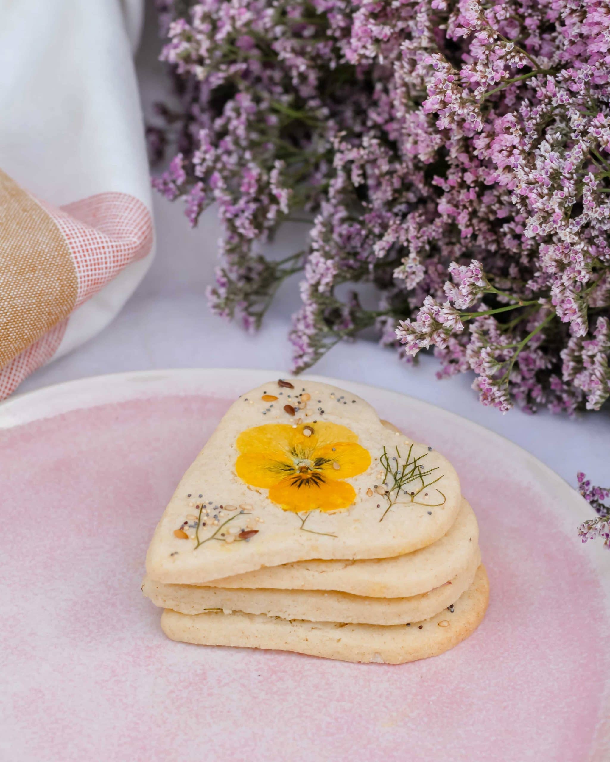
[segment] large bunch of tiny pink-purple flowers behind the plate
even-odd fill
[[[302,271],[297,370],[376,326],[501,411],[601,408],[608,0],[157,2],[181,109],[149,129],[177,144],[153,183],[191,224],[217,204],[213,309],[256,328]],[[307,250],[263,257],[287,219]]]

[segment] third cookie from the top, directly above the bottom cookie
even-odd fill
[[[225,612],[280,616],[309,622],[395,625],[429,619],[461,596],[474,580],[480,554],[456,577],[421,595],[409,598],[367,598],[319,590],[231,590],[189,584],[144,581],[143,593],[152,603],[183,614],[213,609]]]

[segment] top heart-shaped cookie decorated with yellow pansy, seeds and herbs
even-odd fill
[[[149,547],[159,582],[203,584],[309,559],[380,559],[443,536],[460,483],[439,453],[335,386],[270,381],[226,412]]]

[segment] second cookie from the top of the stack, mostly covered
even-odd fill
[[[335,590],[368,597],[409,597],[437,588],[478,553],[477,517],[462,501],[447,534],[426,548],[393,559],[300,561],[207,582],[215,588]]]

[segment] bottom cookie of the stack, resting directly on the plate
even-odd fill
[[[382,627],[273,619],[264,614],[209,612],[188,616],[165,610],[161,626],[172,640],[201,645],[273,648],[342,661],[403,664],[437,656],[467,638],[483,620],[489,583],[483,565],[455,602],[419,623]]]

